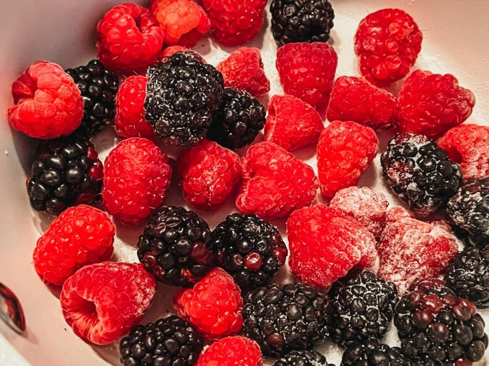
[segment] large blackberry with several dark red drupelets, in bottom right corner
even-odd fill
[[[474,304],[440,280],[419,282],[403,296],[394,324],[404,355],[424,366],[471,364],[487,348],[484,320]]]

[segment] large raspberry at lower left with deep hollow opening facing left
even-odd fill
[[[66,280],[60,301],[78,337],[106,345],[141,321],[155,291],[156,282],[142,264],[102,262]]]

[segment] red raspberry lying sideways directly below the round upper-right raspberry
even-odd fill
[[[374,130],[388,129],[396,124],[397,99],[363,78],[341,76],[331,91],[327,116],[330,121],[351,120]]]

